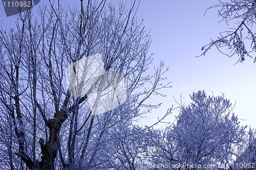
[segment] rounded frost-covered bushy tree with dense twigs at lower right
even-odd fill
[[[227,169],[245,151],[246,127],[224,96],[198,91],[190,97],[190,105],[180,106],[176,124],[145,132],[151,169]]]

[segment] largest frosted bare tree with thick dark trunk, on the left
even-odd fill
[[[49,1],[0,31],[0,169],[143,169],[146,164],[132,120],[160,106],[145,101],[169,87],[162,83],[167,68],[161,62],[147,73],[151,39],[136,17],[137,1],[78,2],[77,8]],[[78,76],[78,61],[94,55],[95,71],[103,68],[104,74],[91,75],[90,86],[85,79],[74,81],[78,91],[72,91],[66,70]],[[113,73],[124,81],[110,80]],[[110,88],[111,82],[124,83],[125,101],[114,95],[119,105],[97,114],[88,101],[96,88]],[[85,93],[76,95],[80,91]]]

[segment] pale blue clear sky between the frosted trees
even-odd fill
[[[76,1],[79,5],[80,1]],[[204,16],[205,10],[216,3],[217,0],[141,1],[138,18],[144,18],[146,29],[151,30],[152,45],[148,54],[155,54],[151,69],[158,65],[159,60],[163,60],[169,66],[166,77],[173,87],[162,90],[167,95],[165,99],[154,99],[156,101],[153,102],[163,102],[162,107],[140,119],[140,125],[151,126],[167,108],[172,105],[177,107],[173,97],[180,101],[182,94],[183,102],[189,104],[189,94],[205,90],[207,95],[213,93],[215,96],[224,92],[233,105],[236,103],[233,111],[244,119],[241,120],[242,125],[256,128],[256,63],[253,63],[253,59],[247,57],[243,63],[233,65],[238,57],[228,58],[215,48],[211,48],[205,57],[195,57],[201,54],[201,47],[210,42],[210,39],[216,39],[220,32],[236,27],[227,26],[225,22],[219,23],[221,18],[217,17],[216,8],[209,10]],[[34,7],[33,10],[36,9]],[[0,4],[0,19],[4,16],[3,4]],[[7,17],[4,24],[7,24],[6,20],[11,23],[15,16]],[[178,112],[173,111],[165,121],[173,122],[176,114]]]

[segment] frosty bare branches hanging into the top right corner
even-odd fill
[[[210,50],[212,46],[228,57],[237,55],[239,61],[245,60],[245,57],[254,58],[256,51],[256,1],[238,0],[238,1],[219,1],[209,9],[218,9],[221,21],[228,23],[237,22],[229,31],[224,31],[216,40],[212,40],[209,44],[202,47],[203,54]],[[208,10],[209,10],[208,9]],[[207,11],[207,10],[206,10]]]

